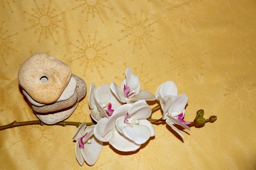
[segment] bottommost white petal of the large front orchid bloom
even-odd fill
[[[140,147],[140,145],[118,133],[116,130],[114,131],[112,138],[109,140],[109,144],[122,152],[136,151]]]

